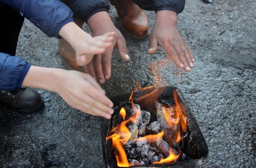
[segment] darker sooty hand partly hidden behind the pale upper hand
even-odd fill
[[[92,75],[99,83],[105,83],[105,80],[111,76],[111,58],[114,48],[119,51],[120,57],[123,60],[130,60],[128,55],[128,49],[125,39],[121,32],[114,26],[107,12],[102,11],[92,15],[87,21],[92,36],[99,36],[107,32],[115,32],[116,36],[113,40],[112,46],[106,49],[103,54],[97,54],[93,57],[93,60],[84,66],[86,73]]]

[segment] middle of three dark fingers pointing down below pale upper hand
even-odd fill
[[[97,75],[97,78],[100,84],[105,83],[105,77],[104,77],[104,73],[103,73],[103,68],[102,68],[102,62],[101,62],[101,57],[102,55],[98,54],[95,55],[93,58],[93,65],[94,65],[94,69]]]

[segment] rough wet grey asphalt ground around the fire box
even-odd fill
[[[206,167],[256,167],[255,9],[254,0],[187,1],[177,26],[195,55],[195,68],[185,72],[172,61],[163,64],[163,49],[147,54],[149,37],[124,35],[131,60],[121,60],[115,50],[111,79],[102,87],[110,96],[131,92],[136,81],[154,85],[148,65],[157,65],[160,84],[180,88],[197,119],[209,148]],[[146,13],[152,29],[155,13]],[[110,15],[119,28],[113,6]],[[17,55],[33,65],[67,69],[58,40],[28,20]],[[0,104],[0,167],[104,167],[101,118],[69,107],[56,93],[38,92],[45,101],[39,113],[20,115]]]

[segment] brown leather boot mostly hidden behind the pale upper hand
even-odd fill
[[[75,20],[75,23],[81,28],[83,26],[82,20]],[[62,62],[72,70],[84,72],[82,66],[76,64],[76,53],[70,44],[65,39],[59,40],[59,52]]]

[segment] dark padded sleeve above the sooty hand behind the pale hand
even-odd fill
[[[61,0],[68,4],[81,20],[87,22],[89,17],[100,11],[110,9],[108,0]]]

